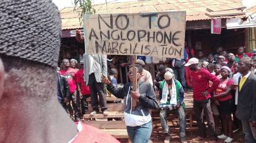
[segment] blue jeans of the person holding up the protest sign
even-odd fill
[[[133,143],[147,143],[152,132],[152,122],[142,126],[127,126],[127,133]]]

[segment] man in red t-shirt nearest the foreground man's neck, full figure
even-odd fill
[[[62,70],[59,71],[59,74],[62,76],[66,76],[67,83],[69,84],[69,92],[71,96],[72,107],[74,108],[75,112],[75,121],[81,118],[81,113],[79,110],[79,100],[77,100],[77,84],[75,83],[75,74],[77,70],[74,68],[70,68],[70,62],[68,59],[62,60],[61,63]],[[70,108],[69,108],[70,109]]]

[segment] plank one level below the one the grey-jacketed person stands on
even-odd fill
[[[99,129],[126,129],[124,121],[85,121],[85,123]]]

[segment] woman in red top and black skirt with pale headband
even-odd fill
[[[220,105],[218,105],[218,110],[221,115],[223,122],[224,134],[218,136],[219,139],[225,139],[224,142],[232,142],[233,139],[233,121],[231,113],[233,111],[232,105],[232,95],[231,95],[231,85],[233,80],[228,78],[231,69],[227,66],[221,67],[221,82],[215,91],[213,98],[218,99]]]

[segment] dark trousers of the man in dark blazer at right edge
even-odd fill
[[[245,142],[255,143],[256,142],[256,127],[250,126],[249,121],[242,121],[242,130],[245,134]]]

